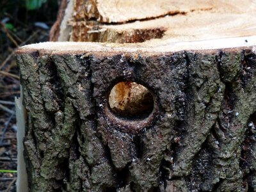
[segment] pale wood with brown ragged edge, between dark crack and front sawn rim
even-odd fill
[[[120,25],[102,25],[97,29],[87,22],[76,22],[71,40],[75,42],[136,43],[155,38],[198,41],[256,34],[256,10],[251,13],[193,12],[154,20]]]

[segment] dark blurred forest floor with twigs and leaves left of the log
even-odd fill
[[[61,0],[0,0],[0,191],[16,191],[15,49],[49,40]]]

